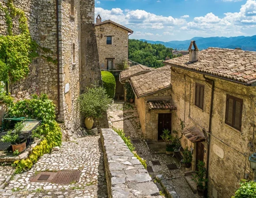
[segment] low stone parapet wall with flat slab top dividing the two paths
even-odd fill
[[[102,129],[105,176],[109,198],[145,198],[159,195],[158,187],[113,129]]]

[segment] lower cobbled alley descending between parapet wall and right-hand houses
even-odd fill
[[[169,170],[167,168],[166,165],[168,164],[176,164],[179,166],[177,158],[166,155],[165,149],[163,153],[156,153],[155,150],[151,150],[150,145],[145,142],[139,124],[139,116],[134,104],[114,103],[108,110],[108,117],[110,121],[109,124],[115,128],[124,129],[125,135],[130,136],[130,139],[140,139],[140,143],[134,143],[133,145],[136,148],[137,154],[147,161],[147,166],[152,167],[153,172],[149,172],[149,174],[153,180],[158,174],[164,176],[164,179],[177,177],[176,179],[168,180],[168,182],[174,186],[180,198],[201,198],[201,196],[192,192],[184,179],[184,166],[176,170]],[[152,145],[152,147],[155,147],[155,145]],[[160,165],[153,165],[151,161],[159,161]]]

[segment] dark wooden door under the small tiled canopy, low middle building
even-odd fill
[[[158,140],[161,140],[161,135],[164,129],[172,131],[172,114],[158,114]]]

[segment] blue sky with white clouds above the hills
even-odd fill
[[[132,29],[134,39],[256,35],[256,0],[95,0],[98,14]]]

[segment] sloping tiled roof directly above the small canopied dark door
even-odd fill
[[[130,81],[137,98],[171,88],[170,66],[131,77]]]

